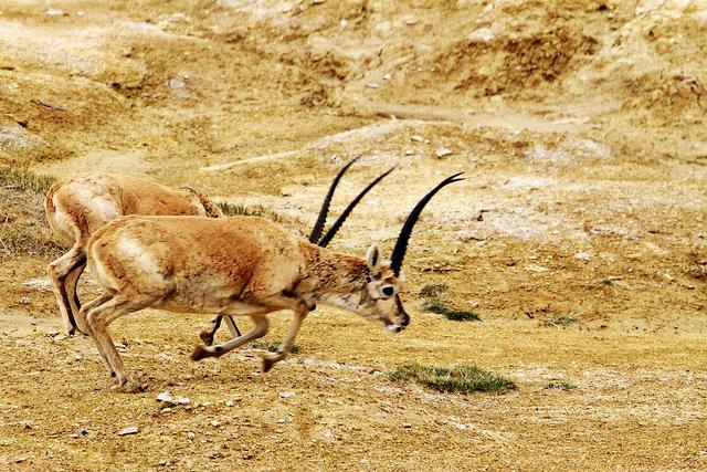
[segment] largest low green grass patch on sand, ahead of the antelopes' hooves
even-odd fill
[[[441,392],[469,394],[488,391],[506,394],[516,390],[516,384],[478,367],[428,367],[408,364],[388,374],[392,381],[415,381]]]

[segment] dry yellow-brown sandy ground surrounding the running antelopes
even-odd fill
[[[323,307],[261,374],[252,350],[189,360],[208,316],[133,315],[113,333],[146,394],[110,390],[92,342],[57,333],[51,293],[24,285],[46,256],[2,252],[0,468],[706,469],[705,38],[697,0],[3,2],[2,165],[196,185],[306,232],[362,154],[334,211],[399,168],[334,243],[360,255],[390,251],[439,179],[467,180],[415,230],[404,333]],[[423,313],[433,282],[484,321]],[[559,315],[578,323],[545,325]],[[519,389],[388,380],[410,361]],[[190,405],[161,411],[165,390]]]

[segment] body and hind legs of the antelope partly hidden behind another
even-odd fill
[[[190,187],[170,188],[112,174],[80,174],[54,183],[44,200],[50,227],[71,250],[49,265],[49,276],[65,329],[87,334],[76,296],[86,266],[88,238],[106,222],[125,214],[220,217],[219,208]]]

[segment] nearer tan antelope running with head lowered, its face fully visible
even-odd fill
[[[399,276],[420,213],[443,187],[463,180],[450,176],[414,207],[400,231],[390,261],[376,243],[366,259],[331,251],[258,217],[118,218],[88,241],[88,268],[104,289],[81,308],[89,334],[116,388],[145,386],[126,375],[108,326],[143,308],[178,313],[250,316],[253,328],[224,344],[197,346],[193,360],[220,357],[263,337],[270,313],[291,310],[294,319],[277,353],[262,355],[263,371],[286,358],[307,314],[317,303],[341,307],[380,324],[390,333],[410,317],[399,296]]]

